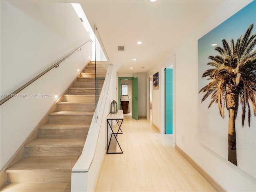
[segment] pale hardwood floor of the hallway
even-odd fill
[[[172,135],[160,134],[150,120],[124,118],[121,128],[124,154],[106,154],[95,191],[216,191],[172,147]]]

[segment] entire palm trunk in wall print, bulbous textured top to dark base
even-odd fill
[[[228,109],[228,161],[237,166],[236,160],[236,114],[238,110],[238,93],[236,86],[229,82],[226,84],[226,107]]]

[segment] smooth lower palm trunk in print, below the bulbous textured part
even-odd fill
[[[229,120],[228,120],[228,161],[232,162],[237,166],[236,161],[236,127],[235,127],[235,117],[236,112],[234,109],[228,110]]]

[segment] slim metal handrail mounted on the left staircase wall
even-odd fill
[[[29,86],[30,84],[32,84],[35,80],[37,80],[38,78],[40,78],[41,76],[43,76],[44,74],[46,74],[48,71],[50,71],[52,68],[57,68],[59,66],[59,64],[64,61],[66,58],[72,56],[75,52],[80,51],[81,48],[83,46],[85,46],[86,44],[88,44],[89,42],[91,42],[92,40],[89,40],[88,42],[86,42],[85,44],[83,44],[82,46],[80,46],[79,48],[77,48],[76,50],[74,50],[73,52],[71,52],[70,54],[68,54],[67,56],[65,56],[64,58],[62,58],[61,60],[59,60],[58,62],[56,62],[54,65],[50,66],[48,69],[46,69],[44,72],[40,73],[38,76],[36,76],[35,78],[33,78],[32,80],[30,80],[29,82],[27,82],[26,84],[24,84],[23,86],[21,86],[20,88],[18,88],[16,91],[12,92],[11,94],[7,94],[7,96],[5,98],[3,98],[0,101],[0,105],[2,105],[4,102],[8,101],[10,98],[12,98],[13,96],[15,96],[18,92],[20,92],[21,90],[23,90],[24,88],[26,88],[27,86]]]

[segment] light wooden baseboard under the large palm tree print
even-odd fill
[[[216,189],[218,192],[226,192],[209,174],[207,174],[190,156],[175,144],[175,149]]]

